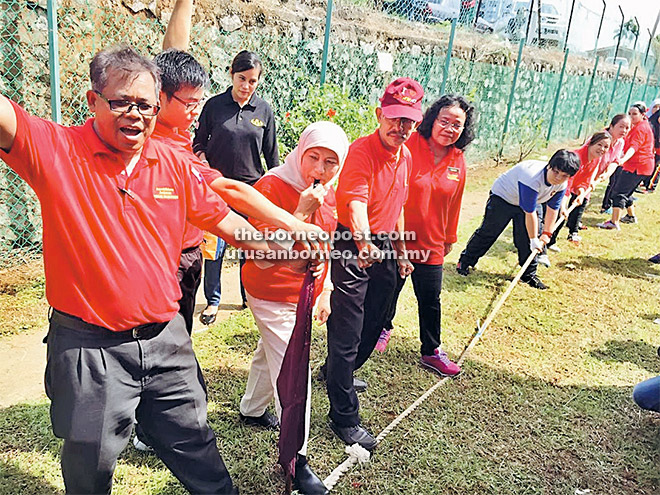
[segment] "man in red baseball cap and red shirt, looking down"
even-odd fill
[[[412,164],[404,143],[422,121],[423,96],[422,86],[407,77],[387,87],[376,109],[379,127],[349,148],[336,192],[334,290],[322,375],[330,398],[330,428],[345,443],[368,450],[376,439],[360,425],[356,394],[366,383],[354,381],[353,371],[378,341],[396,277],[407,277],[413,269],[401,235]]]

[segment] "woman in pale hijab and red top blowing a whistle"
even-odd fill
[[[275,205],[332,233],[337,227],[332,184],[344,164],[348,145],[346,134],[338,125],[332,122],[311,124],[303,131],[298,146],[286,157],[284,164],[270,170],[254,187]],[[250,222],[261,231],[275,230],[254,219]],[[277,398],[277,377],[296,322],[306,265],[306,261],[248,260],[243,267],[248,306],[261,334],[240,405],[240,417],[246,424],[271,429],[278,427],[281,406]],[[318,275],[315,282],[316,319],[325,323],[330,314],[332,292],[327,265],[318,270]],[[277,418],[267,411],[273,398]],[[305,457],[310,411],[311,383],[308,381],[305,442],[296,461],[294,487],[305,494],[327,493]]]

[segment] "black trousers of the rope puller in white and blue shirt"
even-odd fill
[[[529,235],[525,226],[525,212],[520,206],[507,203],[499,196],[491,194],[486,203],[484,219],[461,253],[459,261],[461,266],[475,266],[479,258],[488,252],[504,229],[513,221],[513,243],[518,250],[518,264],[525,264],[532,249],[529,246]],[[536,274],[536,258],[532,260],[522,276],[526,282]]]

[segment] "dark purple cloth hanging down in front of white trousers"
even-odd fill
[[[277,443],[280,451],[278,462],[289,480],[295,476],[296,455],[305,440],[305,403],[313,308],[314,275],[311,270],[307,270],[298,298],[296,324],[277,377],[277,394],[282,406],[280,439]]]

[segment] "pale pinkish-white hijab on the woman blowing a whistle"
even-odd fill
[[[348,154],[348,144],[346,133],[337,124],[327,121],[315,122],[308,125],[302,132],[298,146],[287,155],[284,164],[269,170],[266,175],[279,177],[300,193],[311,185],[307,184],[302,176],[302,157],[305,151],[316,147],[327,148],[334,151],[339,160],[337,173],[325,185],[328,190],[344,166]]]

